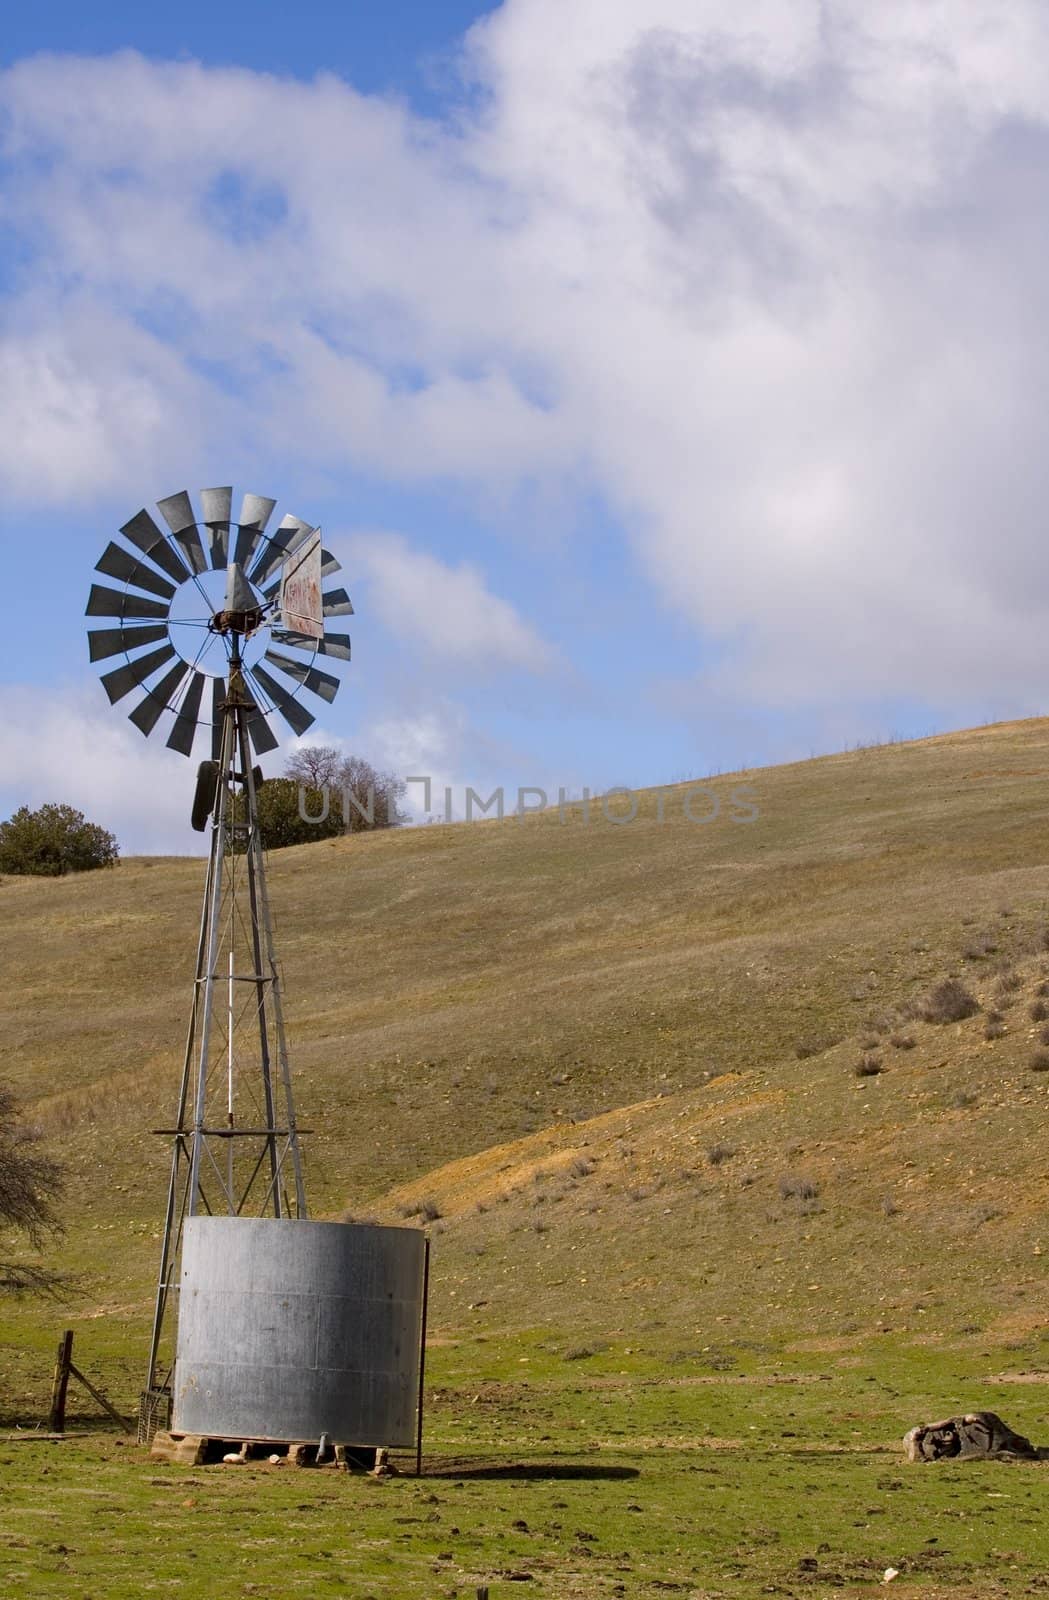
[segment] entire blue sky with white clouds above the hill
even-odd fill
[[[2,814],[193,848],[83,603],[213,483],[344,560],[317,736],[459,794],[1043,709],[1035,0],[37,11],[0,42]]]

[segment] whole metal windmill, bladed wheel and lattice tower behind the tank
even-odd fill
[[[184,491],[158,501],[166,531],[146,510],[125,523],[126,544],[110,542],[96,566],[120,587],[94,584],[86,608],[112,619],[90,630],[91,661],[123,658],[102,675],[109,699],[141,690],[130,718],[142,734],[170,722],[170,749],[190,757],[200,730],[211,747],[193,800],[211,848],[182,1078],[174,1123],[160,1130],[171,1176],[146,1432],[171,1394],[166,1314],[187,1219],[307,1216],[254,762],[278,744],[273,714],[302,734],[313,723],[302,693],[334,699],[339,680],[317,658],[350,656],[349,635],[325,630],[352,606],[345,590],[323,590],[339,563],[320,530],[285,517],[267,533],[275,501],[259,494],[245,494],[237,522],[232,490],[203,490],[200,501],[200,520]]]

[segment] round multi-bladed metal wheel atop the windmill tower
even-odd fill
[[[278,747],[275,725],[297,734],[313,725],[305,698],[334,701],[339,678],[310,656],[350,659],[349,635],[325,627],[353,608],[344,589],[321,592],[339,562],[312,523],[288,514],[267,533],[277,502],[264,494],[245,494],[235,522],[230,486],[201,490],[198,504],[200,520],[185,490],[168,494],[158,518],[136,512],[120,528],[125,542],[106,546],[96,571],[110,582],[93,584],[86,605],[106,626],[88,630],[90,656],[107,664],[112,704],[142,691],[130,720],[144,736],[165,722],[166,747],[189,757],[203,728],[217,760],[222,718],[238,696],[262,755]],[[302,576],[293,590],[304,563],[305,600]]]

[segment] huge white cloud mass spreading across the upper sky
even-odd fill
[[[469,61],[446,126],[334,78],[3,74],[0,219],[43,246],[14,490],[249,418],[326,467],[596,491],[723,701],[1030,698],[1049,11],[507,0]],[[387,546],[377,605],[445,654],[488,610],[523,664],[475,574],[430,573],[440,616],[421,573]]]

